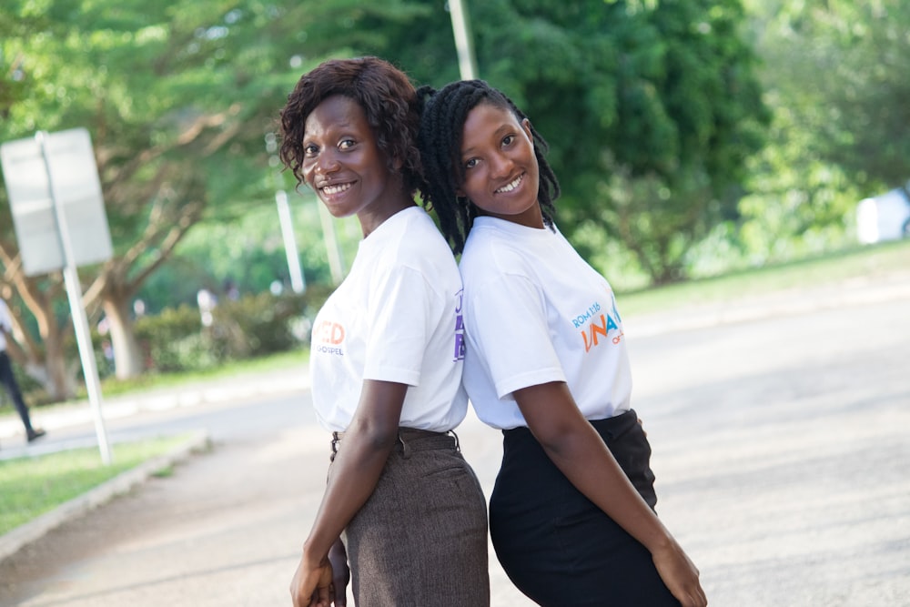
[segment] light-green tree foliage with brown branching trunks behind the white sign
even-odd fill
[[[0,140],[73,126],[91,133],[115,257],[83,269],[85,301],[93,319],[103,306],[117,372],[130,373],[138,355],[129,325],[136,292],[200,219],[229,221],[271,204],[274,174],[263,137],[299,71],[340,49],[316,26],[322,11],[313,3],[108,4],[7,3],[4,15],[12,16],[0,22],[8,34],[0,41],[0,72],[15,77],[3,78],[12,93],[0,95]],[[12,223],[4,220],[2,280],[39,327],[21,358],[36,372],[43,358],[55,367],[42,371],[54,376],[48,388],[66,396],[59,345],[72,329],[54,303],[60,277],[25,277],[17,252]]]

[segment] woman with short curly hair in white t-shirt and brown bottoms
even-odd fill
[[[451,433],[468,406],[461,279],[414,201],[414,87],[376,57],[327,61],[280,117],[284,164],[363,233],[312,331],[312,400],[337,452],[293,604],[346,605],[347,551],[359,607],[489,605],[486,502]]]

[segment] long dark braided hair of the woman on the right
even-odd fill
[[[436,210],[440,230],[458,255],[479,214],[478,207],[469,198],[456,194],[465,179],[465,169],[460,162],[465,120],[470,110],[480,104],[509,110],[519,122],[527,116],[508,96],[483,80],[461,80],[440,90],[421,86],[417,96],[421,104],[418,146],[427,179],[424,199],[428,207]],[[560,196],[560,185],[544,156],[549,148],[547,142],[533,126],[531,137],[541,175],[538,202],[544,224],[552,227],[556,212],[553,203]]]

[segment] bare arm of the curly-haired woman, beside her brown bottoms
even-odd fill
[[[329,607],[329,549],[376,489],[379,474],[398,440],[407,390],[406,384],[370,379],[363,382],[357,412],[332,464],[316,521],[303,544],[303,555],[291,582],[295,607]]]

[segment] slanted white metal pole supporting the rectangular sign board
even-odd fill
[[[98,367],[95,359],[95,349],[92,348],[92,337],[88,329],[86,309],[82,306],[82,287],[79,285],[79,273],[76,271],[76,256],[73,253],[73,242],[69,236],[69,228],[63,216],[63,209],[57,202],[54,192],[54,181],[51,178],[51,167],[47,160],[45,148],[45,131],[35,133],[35,139],[41,148],[41,157],[45,161],[48,191],[51,204],[54,207],[54,216],[57,223],[57,235],[60,237],[60,247],[63,249],[64,268],[63,278],[66,284],[66,296],[69,298],[69,308],[73,315],[73,329],[76,331],[76,344],[79,347],[79,356],[82,359],[82,372],[86,378],[88,400],[91,403],[93,417],[95,418],[95,433],[98,437],[98,449],[101,451],[101,461],[106,466],[111,464],[111,450],[107,443],[105,420],[101,413],[101,381],[98,379]]]

